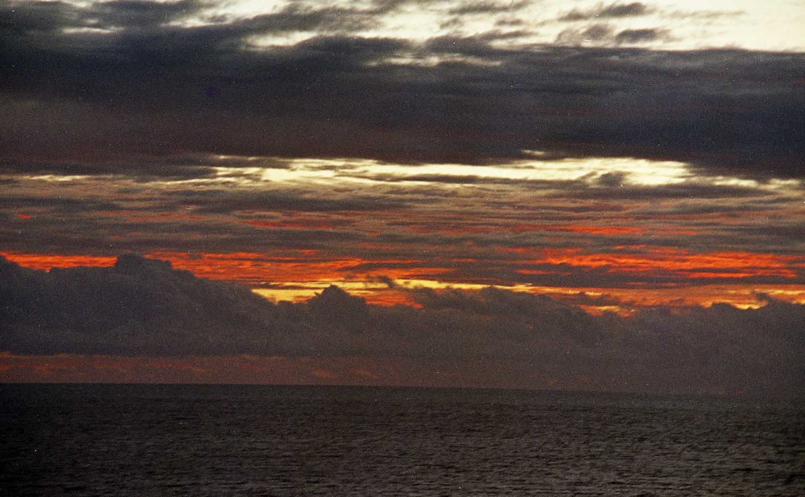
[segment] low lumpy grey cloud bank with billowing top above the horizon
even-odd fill
[[[643,391],[805,387],[805,306],[766,296],[757,310],[660,307],[623,318],[494,288],[411,292],[419,309],[372,306],[335,286],[274,303],[135,255],[48,273],[2,260],[0,350],[503,360]]]

